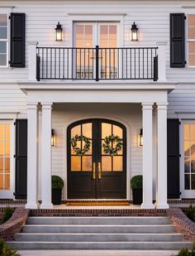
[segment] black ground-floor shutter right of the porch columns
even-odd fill
[[[178,199],[179,191],[179,121],[167,120],[168,198]]]

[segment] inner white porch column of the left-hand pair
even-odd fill
[[[52,103],[42,104],[41,140],[41,209],[52,209],[51,203],[51,109]]]

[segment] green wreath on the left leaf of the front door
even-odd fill
[[[85,142],[83,149],[80,147],[77,147],[77,142]],[[76,155],[81,157],[81,156],[84,156],[84,154],[89,151],[91,142],[90,142],[89,138],[83,136],[83,134],[81,134],[80,136],[78,136],[78,134],[76,134],[74,136],[74,138],[71,138],[71,145],[72,145],[73,151],[76,153]]]

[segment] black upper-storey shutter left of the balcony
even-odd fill
[[[25,13],[11,13],[11,60],[12,67],[25,67]]]

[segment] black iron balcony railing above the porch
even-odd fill
[[[156,60],[156,47],[37,47],[37,80],[157,80]]]

